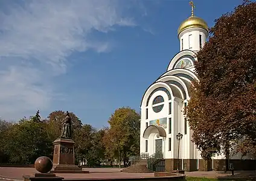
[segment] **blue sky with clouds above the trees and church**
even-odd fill
[[[195,15],[212,27],[241,3],[195,0]],[[101,128],[118,107],[139,112],[190,14],[185,0],[0,0],[0,117],[69,110]]]

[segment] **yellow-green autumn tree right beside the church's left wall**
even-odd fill
[[[139,153],[139,114],[130,107],[115,110],[109,119],[110,128],[104,136],[107,155],[118,157],[121,167],[121,157]]]

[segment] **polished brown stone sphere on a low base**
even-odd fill
[[[40,156],[34,162],[34,168],[36,168],[40,173],[48,173],[51,171],[51,168],[53,168],[53,162],[50,157]]]

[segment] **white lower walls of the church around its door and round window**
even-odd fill
[[[164,107],[159,113],[155,113],[152,109],[152,101],[155,97],[161,95],[164,98]],[[169,115],[169,102],[171,101],[171,114]],[[148,109],[148,119],[146,119],[146,109]],[[178,158],[178,141],[176,135],[182,133],[184,136],[180,141],[179,147],[179,158],[184,159],[193,159],[194,158],[194,144],[191,143],[191,134],[190,129],[187,123],[187,135],[185,135],[185,121],[184,121],[184,101],[179,98],[172,97],[171,100],[168,100],[167,94],[164,91],[157,91],[149,100],[149,106],[141,106],[141,153],[146,152],[146,139],[142,138],[144,130],[146,129],[146,122],[159,118],[167,118],[167,128],[165,129],[166,138],[156,138],[156,133],[153,133],[149,136],[148,140],[148,153],[152,155],[155,153],[155,140],[163,139],[163,152],[164,158]],[[169,118],[171,118],[171,133],[169,134]],[[171,138],[171,151],[169,151],[169,138]]]

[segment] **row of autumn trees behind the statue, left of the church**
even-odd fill
[[[139,153],[139,116],[132,109],[125,109],[122,114],[112,115],[111,129],[97,130],[89,124],[83,125],[70,112],[74,128],[75,164],[83,161],[88,167],[97,167],[106,159],[117,159],[121,153]],[[41,119],[39,111],[18,122],[0,119],[0,162],[33,164],[39,156],[53,158],[53,141],[60,136],[64,118],[65,112],[57,110],[51,112],[48,119]],[[114,142],[109,142],[113,139]]]

